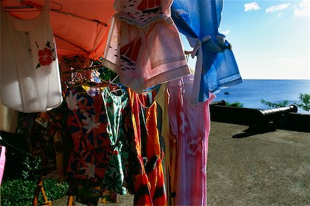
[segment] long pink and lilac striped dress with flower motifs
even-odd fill
[[[169,122],[177,139],[175,205],[207,205],[209,103],[215,95],[210,93],[207,102],[189,104],[193,80],[189,75],[168,82],[167,87]]]

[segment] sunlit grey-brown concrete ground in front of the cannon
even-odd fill
[[[207,204],[310,205],[310,133],[274,130],[249,135],[247,128],[211,122]],[[118,198],[118,204],[110,205],[133,203],[130,195]],[[64,197],[52,205],[66,201]]]

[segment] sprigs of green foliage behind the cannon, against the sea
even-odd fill
[[[298,98],[302,103],[300,104],[293,103],[293,104],[298,106],[299,108],[302,108],[304,111],[310,111],[310,94],[300,93]],[[280,102],[280,103],[273,103],[273,102],[268,102],[266,100],[260,100],[260,103],[265,104],[271,108],[285,107],[289,105],[289,101],[287,100]]]

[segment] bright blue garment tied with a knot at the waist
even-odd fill
[[[192,57],[197,56],[193,103],[205,102],[209,91],[216,93],[241,83],[230,44],[218,32],[223,0],[174,0],[171,9],[179,32],[194,47]]]

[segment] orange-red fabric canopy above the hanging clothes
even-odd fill
[[[114,0],[53,0],[50,22],[59,58],[79,55],[98,60],[103,56],[113,4]],[[43,5],[44,0],[1,1],[4,10],[21,19],[38,16]]]

